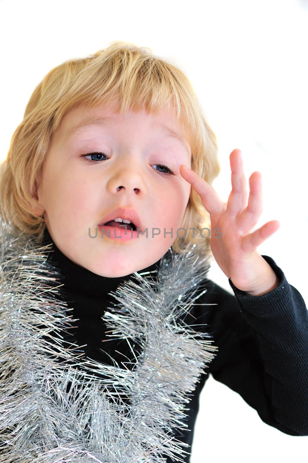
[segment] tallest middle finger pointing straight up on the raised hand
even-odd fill
[[[233,150],[230,155],[232,190],[228,198],[227,212],[237,215],[247,205],[247,180],[244,174],[241,150]]]

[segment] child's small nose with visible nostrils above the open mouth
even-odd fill
[[[107,182],[109,193],[115,194],[122,191],[122,194],[131,195],[133,193],[143,197],[147,193],[146,184],[141,173],[134,169],[119,169]]]

